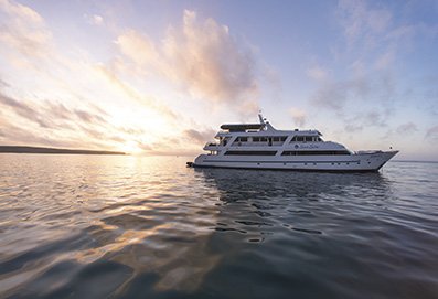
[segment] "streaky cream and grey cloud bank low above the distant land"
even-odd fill
[[[18,100],[0,90],[3,142],[84,148],[86,140],[85,148],[120,149],[127,140],[143,134],[138,128],[113,126],[106,117],[104,110],[85,103],[81,108],[68,108],[55,100]]]

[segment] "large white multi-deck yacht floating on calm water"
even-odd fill
[[[398,151],[353,152],[323,141],[318,130],[277,130],[258,115],[260,124],[222,125],[216,142],[207,142],[189,167],[309,171],[377,171]]]

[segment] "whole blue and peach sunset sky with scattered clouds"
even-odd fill
[[[438,1],[0,0],[0,145],[196,154],[259,110],[438,161]]]

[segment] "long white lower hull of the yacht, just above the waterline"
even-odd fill
[[[330,172],[372,172],[378,171],[398,151],[375,151],[348,156],[213,156],[201,154],[192,167],[269,169]]]

